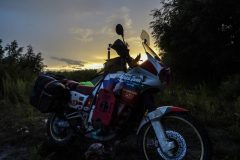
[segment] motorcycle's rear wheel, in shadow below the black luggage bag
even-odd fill
[[[69,144],[74,138],[69,122],[56,113],[48,118],[47,133],[50,143],[59,146]]]

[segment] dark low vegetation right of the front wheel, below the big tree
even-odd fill
[[[158,104],[187,108],[209,133],[214,159],[239,159],[240,76],[223,81],[219,87],[198,84],[187,88],[172,84],[157,95]]]

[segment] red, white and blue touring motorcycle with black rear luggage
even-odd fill
[[[41,112],[51,113],[50,141],[66,145],[79,135],[109,142],[135,131],[137,147],[146,160],[210,159],[207,134],[188,110],[154,104],[154,95],[169,81],[170,69],[151,49],[149,35],[141,34],[147,60],[127,68],[128,56],[110,59],[110,48],[129,51],[120,24],[116,32],[122,36],[123,40],[117,40],[121,45],[109,45],[103,73],[94,85],[56,75],[38,77],[30,100]]]

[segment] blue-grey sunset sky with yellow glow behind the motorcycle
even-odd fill
[[[31,44],[49,69],[99,68],[121,38],[118,23],[130,54],[143,53],[139,36],[151,32],[151,10],[160,7],[160,0],[0,0],[0,39]]]

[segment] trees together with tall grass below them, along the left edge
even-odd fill
[[[0,109],[1,128],[16,129],[34,118],[28,100],[34,79],[43,69],[41,53],[31,46],[23,53],[16,41],[4,48],[0,40]],[[18,123],[16,123],[18,122]]]

